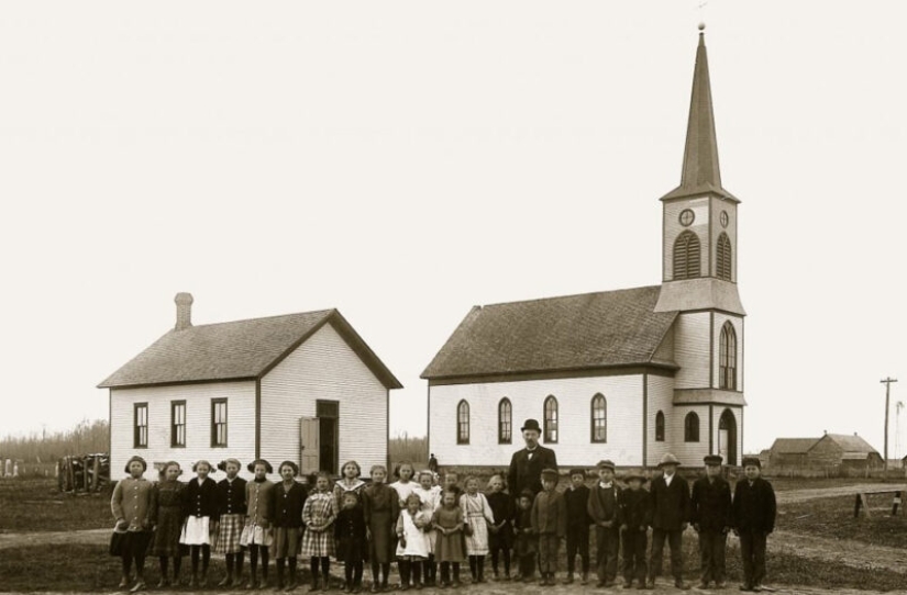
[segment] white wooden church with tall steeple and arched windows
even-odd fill
[[[472,308],[421,377],[442,464],[508,464],[527,418],[561,465],[740,464],[740,201],[721,183],[701,29],[681,184],[661,198],[662,283]]]

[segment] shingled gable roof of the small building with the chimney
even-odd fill
[[[402,384],[336,310],[170,330],[98,388],[256,379],[330,324],[387,389]]]

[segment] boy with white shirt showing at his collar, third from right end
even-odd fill
[[[664,542],[671,547],[671,574],[674,586],[689,588],[684,583],[683,536],[689,519],[689,484],[677,474],[681,462],[666,452],[659,462],[662,475],[652,480],[649,489],[652,510],[652,558],[649,560],[649,588],[655,586],[655,574],[662,568]]]

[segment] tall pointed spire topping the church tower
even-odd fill
[[[709,61],[703,34],[705,27],[705,24],[699,24],[699,46],[696,48],[696,67],[693,71],[693,92],[689,100],[689,121],[681,186],[662,197],[662,200],[708,192],[737,200],[733,194],[721,187],[718,141],[715,134],[715,115],[711,105]]]

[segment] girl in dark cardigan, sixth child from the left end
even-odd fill
[[[284,588],[284,566],[290,565],[290,582],[287,591],[296,588],[296,555],[302,536],[302,508],[309,493],[295,480],[299,468],[292,461],[284,461],[278,469],[284,479],[272,490],[274,501],[274,559],[277,561],[277,590]]]

